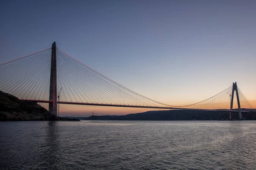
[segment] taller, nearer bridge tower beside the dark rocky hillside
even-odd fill
[[[52,62],[51,62],[51,76],[50,76],[50,93],[49,93],[49,112],[55,116],[57,113],[57,68],[56,68],[56,43],[52,44]]]

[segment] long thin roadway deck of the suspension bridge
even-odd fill
[[[31,100],[31,99],[20,99],[23,101],[30,102],[38,102],[38,103],[51,103],[51,101],[47,100]],[[174,108],[174,107],[155,107],[155,106],[134,106],[134,105],[112,105],[112,104],[100,104],[100,103],[79,103],[79,102],[58,102],[59,104],[67,104],[67,105],[91,105],[91,106],[111,106],[111,107],[123,107],[123,108],[153,108],[153,109],[173,109],[173,110],[190,110],[190,111],[225,111],[225,112],[238,112],[236,110],[228,110],[228,109],[191,109],[191,108]],[[241,112],[249,112],[249,111],[241,111]]]

